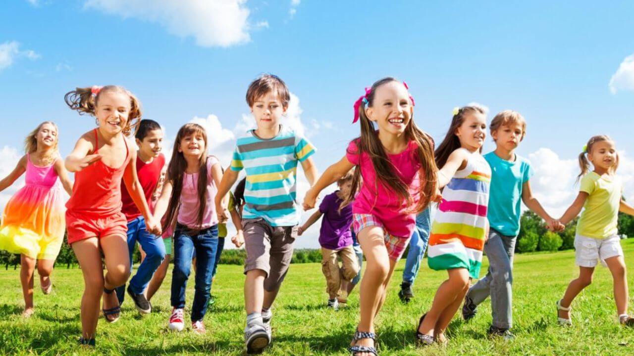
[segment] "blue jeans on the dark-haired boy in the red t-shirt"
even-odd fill
[[[162,238],[157,238],[145,229],[145,219],[138,217],[127,223],[127,250],[130,256],[130,265],[132,266],[132,255],[134,253],[134,245],[141,245],[145,251],[145,258],[136,274],[130,279],[130,289],[134,294],[143,294],[148,283],[152,279],[154,272],[159,268],[161,262],[165,258],[165,245]],[[117,288],[117,298],[122,303],[126,296],[126,285]]]

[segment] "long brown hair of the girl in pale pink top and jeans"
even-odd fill
[[[198,215],[196,217],[196,224],[198,227],[202,225],[202,218],[207,209],[207,132],[198,124],[184,124],[176,134],[174,139],[174,149],[172,149],[172,158],[167,166],[167,178],[172,182],[172,195],[169,197],[169,204],[167,205],[167,212],[162,220],[162,229],[166,231],[170,226],[170,223],[176,219],[178,207],[180,205],[181,191],[183,191],[183,176],[187,169],[187,161],[183,156],[183,152],[179,152],[181,141],[187,136],[193,134],[202,134],[205,140],[205,148],[202,150],[202,155],[198,160]]]

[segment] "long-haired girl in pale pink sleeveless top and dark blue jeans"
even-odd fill
[[[172,315],[169,328],[184,327],[185,289],[190,276],[191,258],[196,257],[196,284],[191,307],[191,329],[205,333],[203,319],[209,303],[211,274],[218,248],[218,217],[214,199],[222,177],[220,163],[207,155],[207,133],[197,124],[186,124],[174,140],[172,159],[155,207],[167,231],[176,220],[174,231],[174,271],[172,272]]]

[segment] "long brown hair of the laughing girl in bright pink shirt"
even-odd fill
[[[409,206],[413,205],[413,199],[408,191],[408,186],[401,180],[396,174],[396,167],[391,162],[383,144],[378,139],[377,130],[374,124],[367,117],[365,110],[368,107],[372,107],[374,103],[374,96],[377,92],[377,88],[387,84],[389,82],[398,82],[398,80],[387,77],[378,80],[370,88],[370,92],[366,95],[367,103],[362,102],[359,106],[359,121],[361,122],[361,136],[357,137],[353,141],[356,143],[357,151],[349,152],[359,156],[359,162],[362,153],[366,153],[372,159],[372,166],[376,172],[377,181],[373,182],[375,187],[377,184],[381,184],[385,188],[394,191],[399,198],[406,200]],[[410,103],[413,105],[413,103]],[[408,113],[409,114],[409,113]],[[415,207],[415,212],[422,212],[429,204],[432,195],[436,189],[436,174],[437,168],[434,162],[434,143],[429,135],[423,130],[419,129],[414,123],[414,118],[410,117],[407,127],[405,128],[405,137],[408,141],[415,141],[418,148],[416,149],[416,156],[421,164],[420,177],[424,177],[425,182],[421,182],[420,189],[417,194],[420,195],[418,205]],[[365,181],[363,184],[372,184],[372,182]],[[346,196],[342,206],[346,206],[348,203],[354,200],[354,196],[361,185],[361,170],[354,170],[353,188],[350,190],[350,194]]]

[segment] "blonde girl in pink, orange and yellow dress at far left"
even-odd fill
[[[0,191],[26,172],[25,186],[11,197],[0,226],[0,250],[19,253],[20,281],[24,294],[24,317],[33,306],[33,276],[36,268],[44,294],[51,293],[51,272],[60,252],[66,229],[61,186],[71,193],[72,182],[60,158],[57,126],[42,122],[25,139],[26,155],[15,169],[0,181]]]

